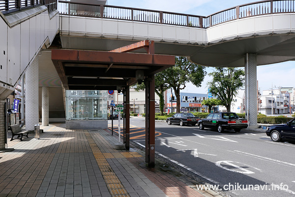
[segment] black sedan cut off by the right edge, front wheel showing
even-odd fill
[[[272,141],[281,140],[295,141],[295,118],[283,125],[272,125],[266,128],[266,135],[270,136]]]

